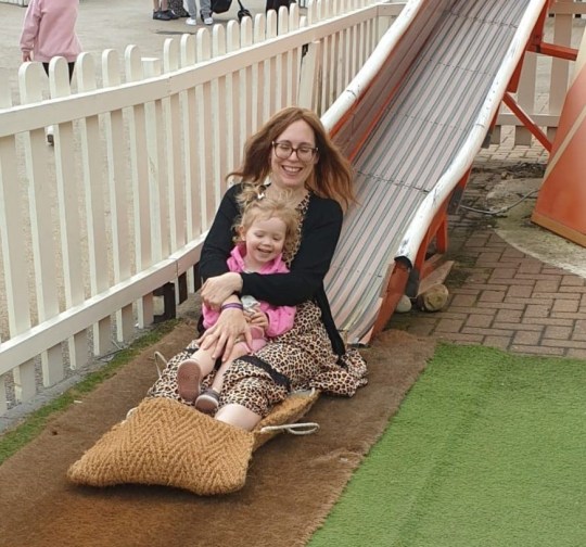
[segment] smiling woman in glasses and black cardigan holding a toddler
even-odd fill
[[[277,113],[246,143],[242,167],[228,175],[241,182],[220,204],[202,249],[202,300],[220,310],[214,327],[192,344],[214,347],[226,359],[233,345],[252,343],[250,326],[238,304],[240,294],[276,306],[296,306],[293,328],[252,355],[234,360],[224,378],[216,419],[252,430],[293,390],[316,387],[352,396],[366,384],[366,364],[346,349],[331,316],[323,278],[340,238],[343,208],[353,201],[348,162],[313,112],[289,107]],[[296,249],[284,256],[289,274],[237,274],[226,259],[242,207],[264,195],[286,191],[300,213]],[[235,306],[233,304],[237,304]],[[183,357],[184,358],[184,357]],[[171,359],[151,396],[180,399],[177,366]],[[213,380],[213,373],[204,384]]]

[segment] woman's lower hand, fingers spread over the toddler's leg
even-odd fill
[[[249,346],[252,344],[250,325],[241,309],[228,308],[221,311],[216,325],[207,329],[196,342],[202,349],[215,346],[212,358],[217,359],[221,356],[225,362],[234,344],[242,340]]]

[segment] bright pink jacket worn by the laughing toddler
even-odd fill
[[[230,271],[241,272],[244,271],[244,259],[242,258],[242,249],[241,245],[235,245],[230,253],[230,256],[227,260],[228,268]],[[265,264],[263,269],[258,274],[286,274],[289,268],[283,262],[281,255],[279,255],[275,260]],[[293,320],[295,319],[295,306],[273,306],[268,302],[260,302],[260,310],[265,313],[269,320],[269,326],[265,331],[265,335],[268,338],[279,336],[284,334],[288,330],[293,327]],[[204,317],[204,328],[208,329],[218,320],[219,313],[215,309],[208,308],[205,304],[202,306],[202,313]]]

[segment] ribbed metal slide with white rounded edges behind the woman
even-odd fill
[[[412,278],[546,9],[547,0],[410,1],[322,117],[356,171],[359,205],[326,280],[349,343],[370,340],[397,267]],[[405,285],[404,275],[395,305]]]

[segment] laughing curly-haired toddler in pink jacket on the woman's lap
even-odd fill
[[[260,275],[289,272],[282,254],[283,250],[297,244],[298,218],[286,198],[269,199],[260,195],[244,209],[235,231],[237,244],[227,260],[230,271]],[[202,379],[214,370],[216,364],[212,357],[215,347],[196,349],[177,369],[179,395],[193,403],[198,410],[213,414],[217,409],[224,373],[230,361],[257,352],[267,344],[267,339],[284,334],[293,327],[294,306],[273,306],[247,295],[242,295],[240,300],[241,304],[225,304],[222,309],[238,306],[244,310],[250,323],[251,341],[242,340],[234,345],[228,359],[214,376],[212,385],[201,391]],[[218,320],[220,310],[204,304],[202,314],[203,327],[209,329]]]

